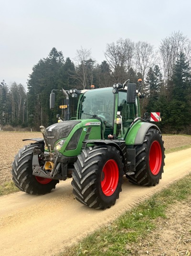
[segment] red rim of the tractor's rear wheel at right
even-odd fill
[[[157,140],[152,142],[149,152],[149,166],[153,175],[157,175],[160,171],[162,163],[162,151]]]

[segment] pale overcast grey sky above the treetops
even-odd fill
[[[53,47],[73,60],[82,46],[101,63],[120,37],[157,48],[174,31],[191,39],[191,0],[0,0],[0,82],[26,86]]]

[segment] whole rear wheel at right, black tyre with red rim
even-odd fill
[[[156,186],[164,172],[164,142],[159,130],[150,128],[141,145],[136,145],[136,171],[127,179],[141,186]]]

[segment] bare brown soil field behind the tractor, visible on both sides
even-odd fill
[[[41,132],[0,132],[1,170],[0,185],[11,180],[11,166],[14,156],[24,146],[34,141],[22,139],[42,138]],[[164,135],[165,149],[191,145],[191,137],[181,135]]]

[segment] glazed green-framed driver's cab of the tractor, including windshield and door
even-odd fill
[[[140,116],[137,98],[127,103],[127,87],[116,93],[112,87],[87,90],[80,95],[77,119],[97,118],[104,124],[104,138],[124,138],[133,120]]]

